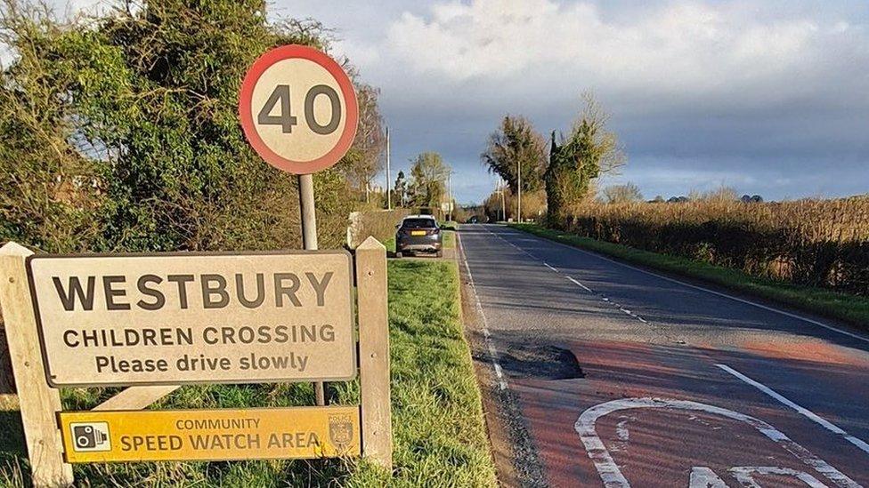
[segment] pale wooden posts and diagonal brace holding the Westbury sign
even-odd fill
[[[74,483],[64,460],[57,415],[61,400],[45,376],[37,316],[26,260],[16,243],[0,248],[0,310],[12,359],[32,483],[37,488]],[[358,348],[361,385],[362,457],[392,468],[392,420],[389,384],[389,330],[386,298],[386,248],[373,237],[362,243],[353,260],[357,287]],[[142,410],[180,385],[135,386],[122,390],[93,411]]]

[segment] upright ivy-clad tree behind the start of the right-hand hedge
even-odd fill
[[[585,108],[570,136],[556,142],[552,132],[546,180],[548,217],[558,222],[571,206],[589,194],[591,181],[614,172],[624,164],[615,133],[607,130],[609,116],[590,93],[583,95]]]

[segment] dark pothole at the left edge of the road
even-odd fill
[[[571,380],[585,376],[576,356],[568,349],[551,345],[521,345],[498,352],[498,362],[510,378]]]

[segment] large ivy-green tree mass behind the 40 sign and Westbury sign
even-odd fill
[[[328,30],[272,22],[263,0],[115,6],[56,20],[0,0],[0,40],[15,54],[0,87],[0,240],[56,252],[298,244],[296,179],[250,148],[238,93],[263,52],[327,50]],[[339,244],[346,179],[332,169],[314,184],[321,244]]]

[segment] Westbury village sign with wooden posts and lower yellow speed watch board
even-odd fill
[[[345,251],[55,256],[9,243],[0,309],[38,488],[72,484],[77,462],[361,454],[392,468],[386,248],[373,237],[355,263]],[[183,383],[357,371],[359,405],[132,412]],[[61,412],[54,388],[73,386],[131,388]]]

